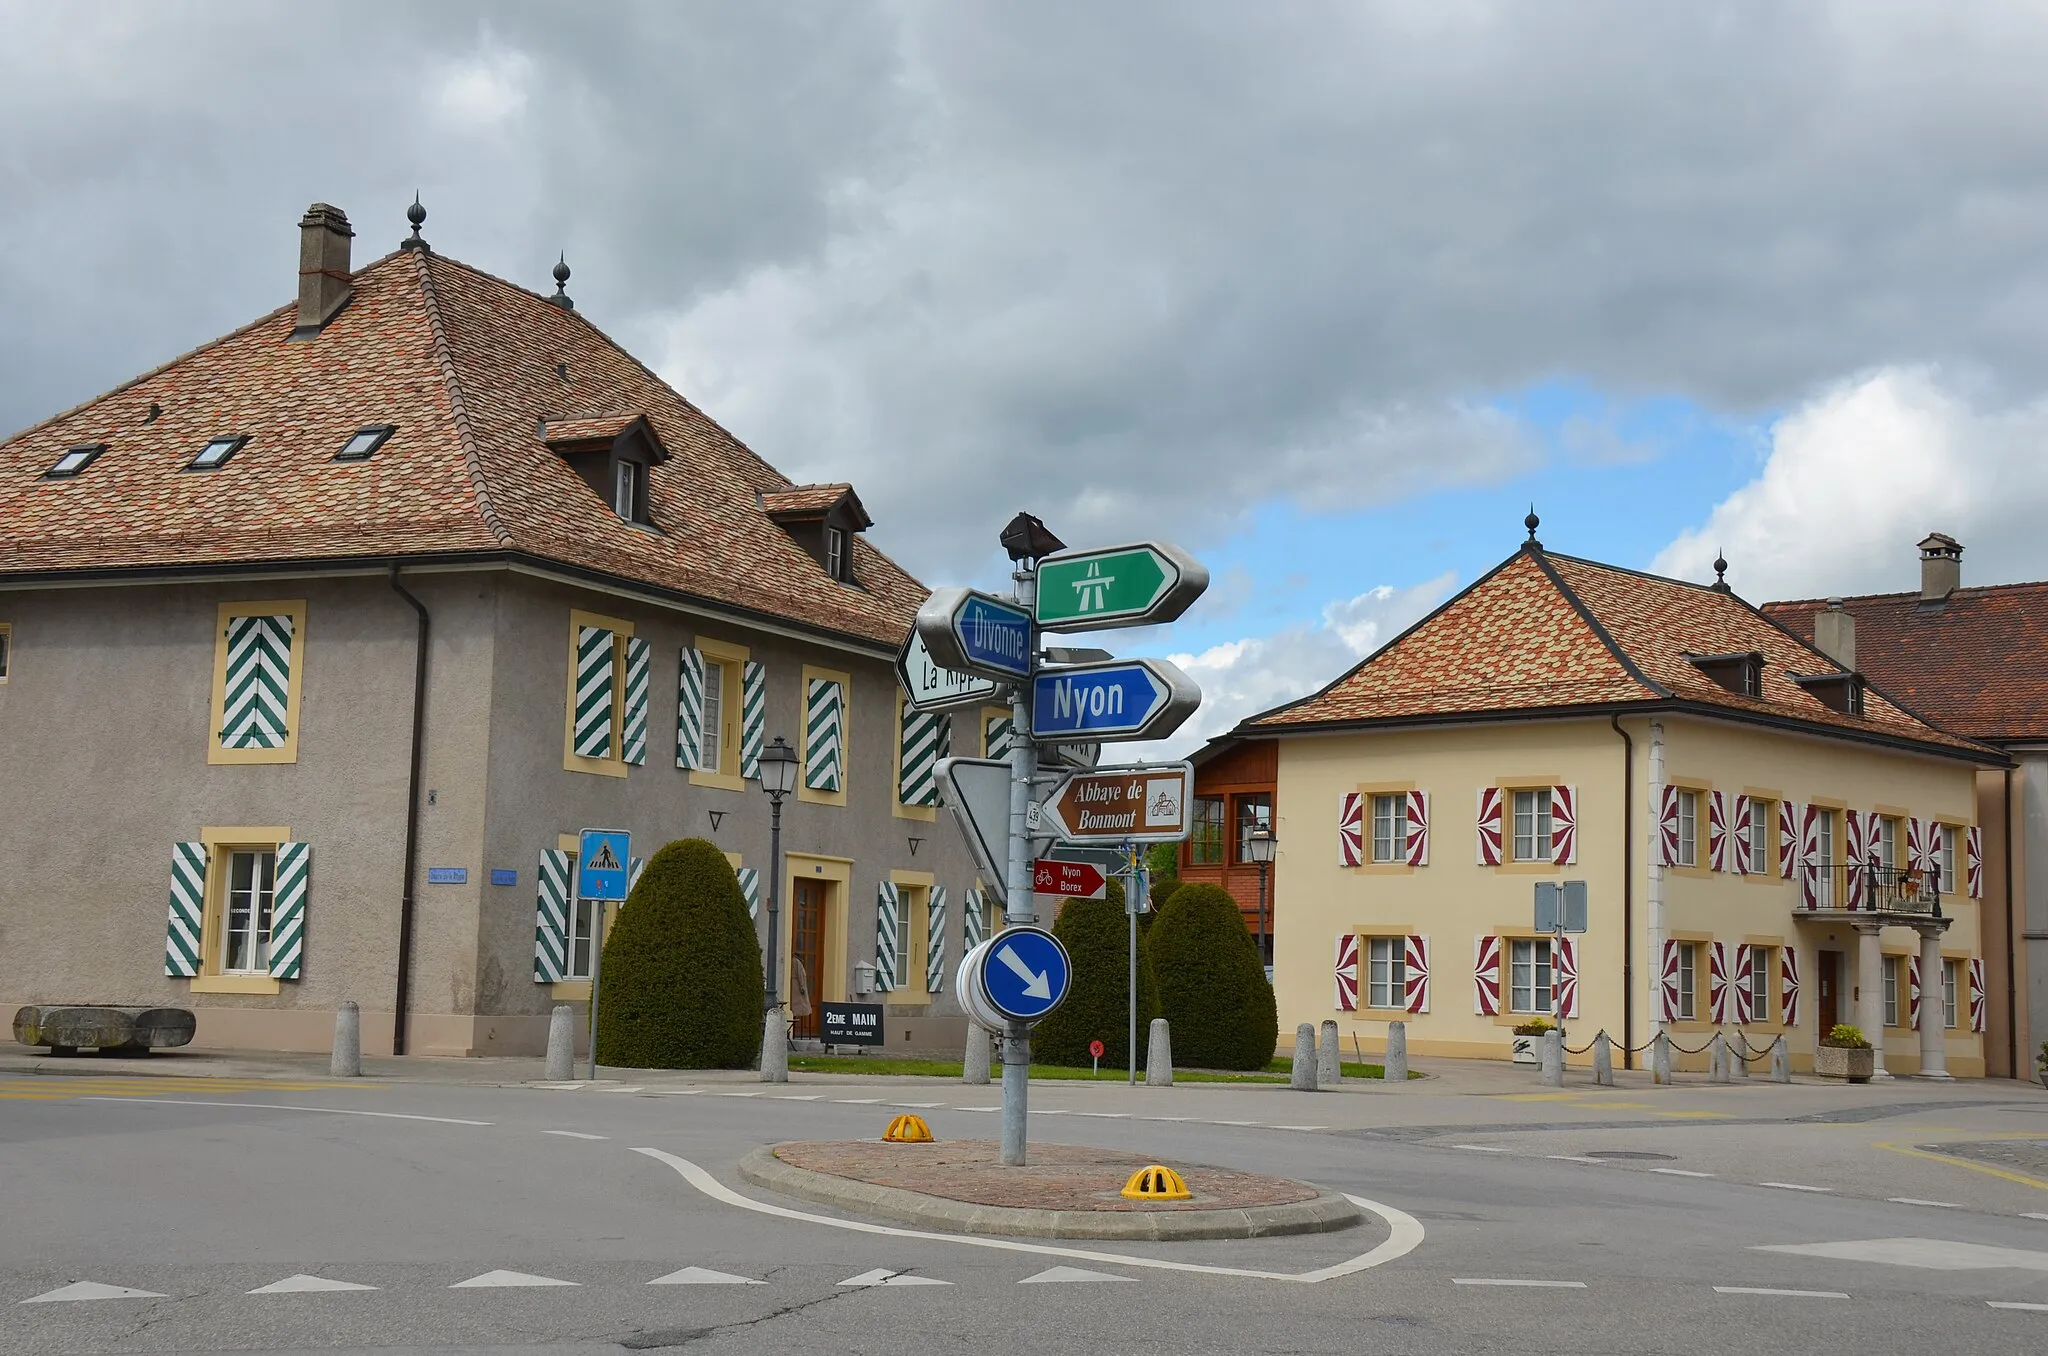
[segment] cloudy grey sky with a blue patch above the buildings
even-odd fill
[[[1522,537],[1749,598],[2048,576],[2048,8],[0,0],[0,430],[295,221],[578,305],[930,584],[1159,535],[1190,735]],[[1188,744],[1182,739],[1178,744]]]

